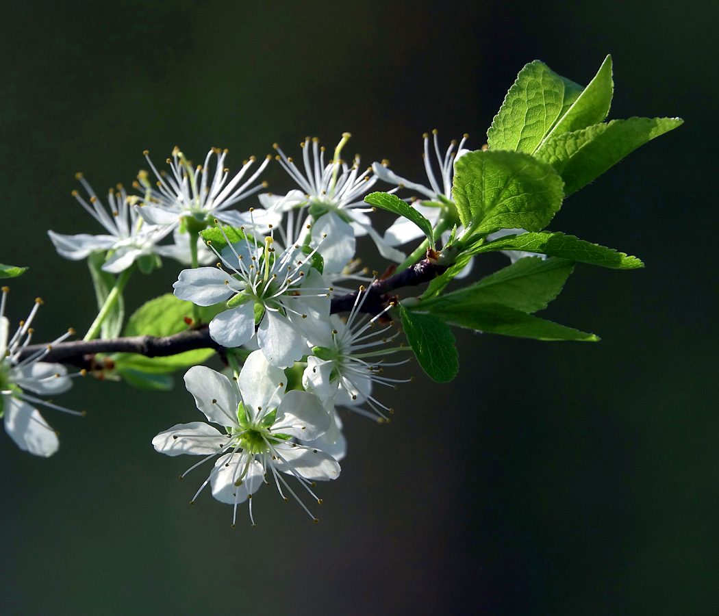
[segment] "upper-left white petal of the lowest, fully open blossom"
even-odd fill
[[[185,387],[195,397],[197,408],[211,422],[220,426],[239,426],[239,393],[224,374],[206,366],[193,366],[185,373]]]

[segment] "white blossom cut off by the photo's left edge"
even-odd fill
[[[72,330],[52,341],[41,351],[20,360],[20,355],[32,338],[33,319],[42,300],[37,298],[29,316],[20,322],[15,334],[9,336],[9,321],[5,316],[8,288],[2,288],[0,300],[0,414],[4,415],[5,431],[23,451],[35,456],[48,457],[58,451],[60,441],[56,433],[35,408],[42,405],[73,415],[75,410],[46,402],[34,395],[56,395],[70,389],[72,382],[62,364],[40,361],[52,347],[72,335]],[[77,373],[80,374],[80,373]]]

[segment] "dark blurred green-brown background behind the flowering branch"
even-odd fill
[[[714,2],[429,0],[13,2],[0,41],[0,261],[17,322],[42,295],[38,341],[86,331],[86,264],[47,229],[99,233],[70,196],[130,185],[173,146],[238,169],[306,135],[388,158],[423,181],[421,134],[486,129],[521,67],[586,84],[615,63],[610,118],[681,116],[569,198],[549,229],[636,254],[631,272],[578,265],[542,316],[602,337],[542,343],[457,331],[450,385],[417,380],[378,426],[344,415],[342,478],[320,523],[263,489],[258,524],[152,436],[198,420],[170,393],[83,380],[45,411],[52,459],[0,434],[4,614],[715,614],[719,409]],[[352,152],[350,152],[350,150]],[[279,165],[270,190],[293,188]],[[244,202],[247,206],[247,202]],[[382,227],[389,218],[377,217]],[[365,262],[386,263],[372,244]],[[506,265],[500,254],[475,277]],[[137,274],[128,311],[179,271]],[[411,374],[411,370],[398,374]],[[180,374],[181,377],[181,374]],[[58,400],[59,402],[59,400]],[[209,472],[209,468],[207,469]],[[317,507],[314,507],[317,509]]]

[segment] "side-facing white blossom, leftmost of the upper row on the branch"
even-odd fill
[[[81,173],[75,175],[87,190],[90,203],[73,190],[73,196],[88,213],[107,230],[109,235],[63,235],[55,231],[47,234],[61,257],[78,261],[85,259],[96,250],[112,251],[102,269],[112,274],[119,274],[130,267],[140,257],[151,255],[160,242],[172,229],[147,224],[132,206],[132,198],[127,197],[122,184],[117,185],[117,192],[110,189],[107,197],[109,211],[97,198],[92,187]]]

